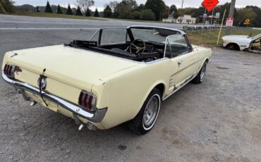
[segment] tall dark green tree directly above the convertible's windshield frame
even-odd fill
[[[162,20],[162,14],[166,13],[166,4],[162,0],[147,0],[145,8],[152,10],[155,20]]]

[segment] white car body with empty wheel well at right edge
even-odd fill
[[[227,35],[222,37],[223,46],[226,49],[245,50],[245,51],[261,51],[261,34],[255,37],[248,35]]]

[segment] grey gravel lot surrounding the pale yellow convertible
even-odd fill
[[[93,31],[0,28],[0,63],[6,51],[88,39]],[[261,55],[212,50],[202,85],[164,101],[143,136],[124,125],[79,132],[71,118],[30,107],[0,79],[0,161],[261,161]]]

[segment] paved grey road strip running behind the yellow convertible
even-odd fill
[[[127,27],[130,25],[150,25],[181,29],[183,25],[174,23],[143,23],[126,20],[104,19],[78,20],[66,18],[35,18],[28,16],[0,15],[0,28],[101,28],[101,27]]]

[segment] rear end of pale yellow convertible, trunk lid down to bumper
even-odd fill
[[[134,66],[137,63],[61,45],[7,53],[2,75],[26,100],[104,129],[98,123],[107,112],[109,94],[92,93],[92,85],[101,82],[102,77]]]

